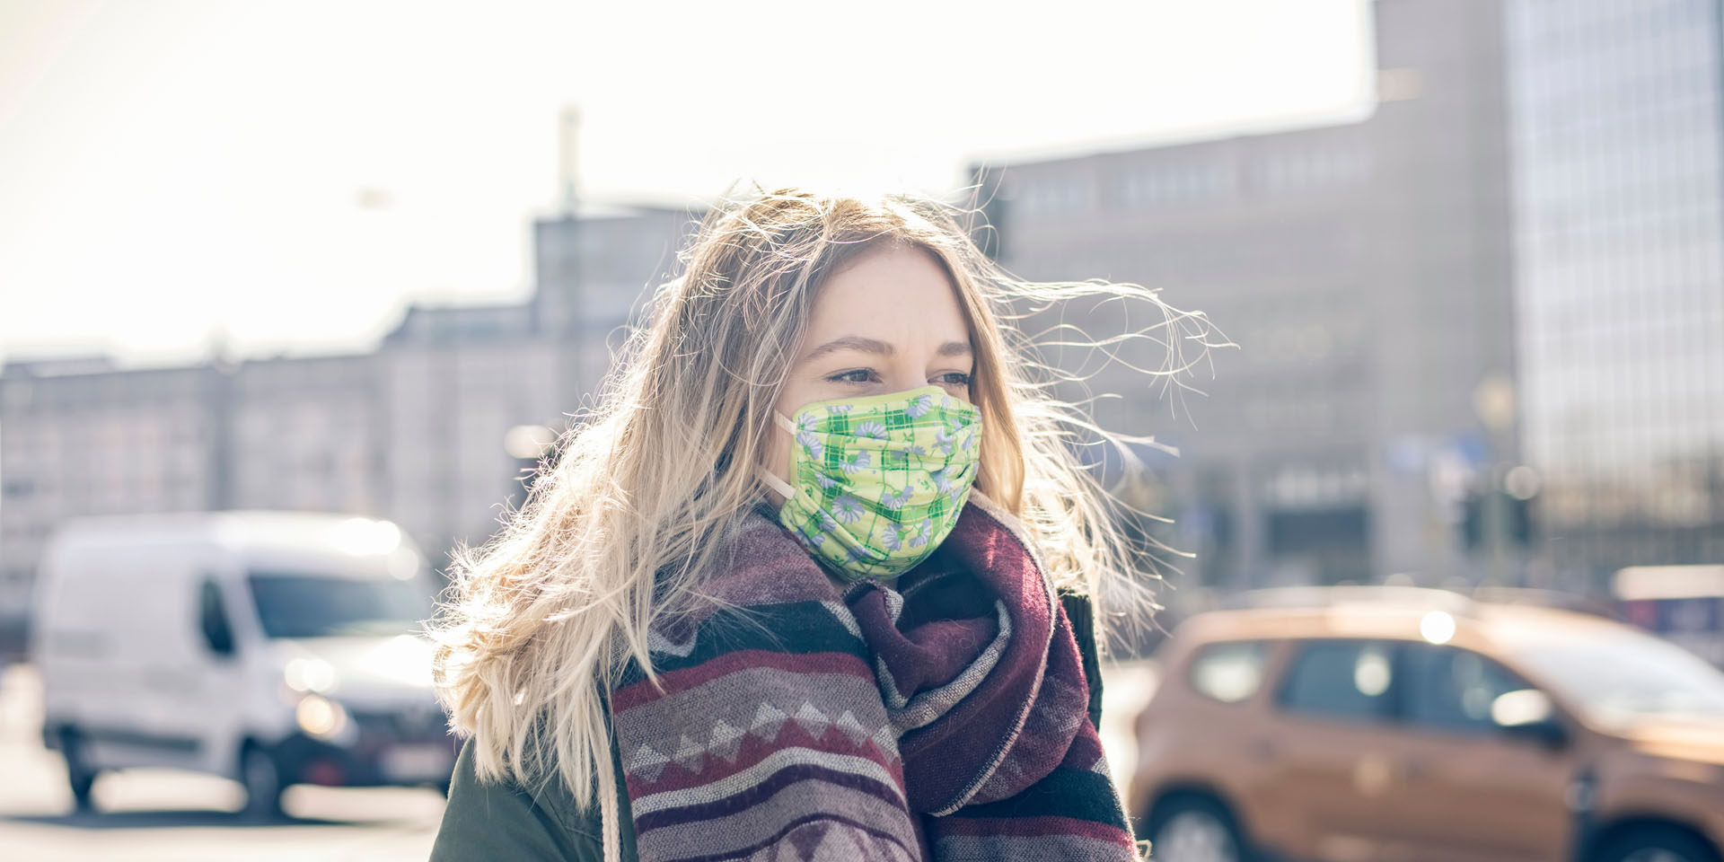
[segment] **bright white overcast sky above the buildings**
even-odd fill
[[[748,9],[748,12],[738,12]],[[976,157],[1357,114],[1369,0],[0,0],[0,359],[365,350],[590,200],[943,193]]]

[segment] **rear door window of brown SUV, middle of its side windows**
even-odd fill
[[[1383,641],[1319,640],[1298,646],[1281,683],[1286,712],[1386,721],[1393,712],[1395,648]]]

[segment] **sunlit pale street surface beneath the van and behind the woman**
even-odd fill
[[[1146,664],[1105,669],[1102,736],[1117,778],[1134,757],[1127,724],[1153,688]],[[443,798],[431,790],[290,788],[290,819],[248,824],[240,784],[167,769],[103,774],[100,814],[71,814],[66,767],[41,746],[41,688],[29,665],[0,672],[0,846],[28,860],[422,860]]]

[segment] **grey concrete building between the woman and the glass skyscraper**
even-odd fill
[[[1240,345],[1210,352],[1209,397],[1121,364],[1090,383],[1124,395],[1098,402],[1103,426],[1179,448],[1150,465],[1191,583],[1490,574],[1453,519],[1467,472],[1515,452],[1474,410],[1514,376],[1503,12],[1374,12],[1377,102],[1357,122],[976,169],[1007,269],[1159,288]],[[1064,312],[1091,338],[1119,321]],[[1138,350],[1159,365],[1162,347]]]

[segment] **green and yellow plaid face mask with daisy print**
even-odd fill
[[[779,524],[843,578],[893,578],[922,562],[959,521],[976,481],[981,412],[940,386],[815,402],[795,419]]]

